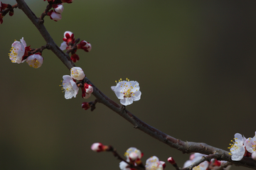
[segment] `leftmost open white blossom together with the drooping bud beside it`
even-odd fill
[[[36,52],[33,55],[28,55],[31,51],[30,46],[26,46],[26,41],[22,38],[20,41],[15,40],[11,45],[9,58],[12,63],[27,62],[30,67],[39,68],[43,64],[43,57],[40,52]]]

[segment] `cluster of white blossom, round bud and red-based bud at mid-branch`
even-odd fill
[[[63,86],[62,89],[65,91],[65,98],[75,98],[78,94],[78,85],[76,80],[81,81],[85,78],[85,73],[82,71],[80,67],[73,67],[70,69],[70,76],[64,75],[63,76]],[[82,89],[82,98],[89,98],[93,92],[93,87],[90,84],[84,83],[83,86],[80,86]]]

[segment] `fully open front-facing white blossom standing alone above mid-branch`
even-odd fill
[[[139,91],[139,83],[129,81],[129,79],[127,81],[120,79],[117,86],[111,86],[111,89],[117,98],[121,99],[120,103],[124,106],[132,104],[133,101],[139,101],[142,95],[142,92]]]

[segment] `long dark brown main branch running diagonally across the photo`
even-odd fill
[[[50,34],[46,30],[45,26],[43,26],[43,23],[41,23],[40,19],[36,17],[36,15],[31,11],[30,8],[28,8],[26,2],[24,0],[16,0],[16,1],[18,3],[18,8],[21,8],[21,10],[24,13],[26,13],[26,16],[28,16],[28,18],[36,26],[36,28],[39,30],[43,38],[46,40],[50,50],[53,51],[53,53],[63,62],[63,64],[65,64],[65,66],[68,69],[75,67],[75,64],[73,64],[73,62],[70,60],[70,57],[66,55],[62,50],[60,50],[58,45],[55,44],[55,42],[53,41],[53,38],[50,37]],[[142,120],[139,120],[139,118],[137,118],[135,115],[127,111],[127,109],[123,108],[122,106],[119,106],[119,104],[115,103],[110,98],[105,96],[105,94],[103,94],[102,91],[97,89],[97,87],[94,84],[92,84],[92,82],[89,79],[87,79],[87,77],[85,77],[83,81],[93,86],[94,91],[92,94],[97,98],[98,102],[103,103],[112,111],[121,115],[124,119],[129,121],[129,123],[132,123],[132,125],[134,125],[135,128],[142,130],[142,132],[145,132],[146,134],[156,138],[161,142],[164,142],[166,145],[169,145],[170,147],[174,147],[175,149],[178,149],[183,153],[199,152],[201,154],[208,154],[208,155],[214,154],[215,159],[225,160],[228,162],[232,162],[235,165],[246,166],[251,169],[256,169],[256,161],[254,161],[250,157],[243,157],[241,161],[234,162],[231,160],[231,156],[230,154],[228,154],[229,152],[223,149],[212,147],[205,143],[183,142],[182,140],[178,140],[174,137],[171,137],[170,135],[167,135],[164,132],[161,132],[160,130],[157,130],[151,125],[144,123]]]

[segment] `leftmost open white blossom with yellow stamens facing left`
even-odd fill
[[[11,45],[11,52],[9,53],[9,58],[11,62],[20,64],[21,62],[25,62],[23,60],[23,55],[25,54],[26,41],[21,39],[21,42],[14,41]]]

